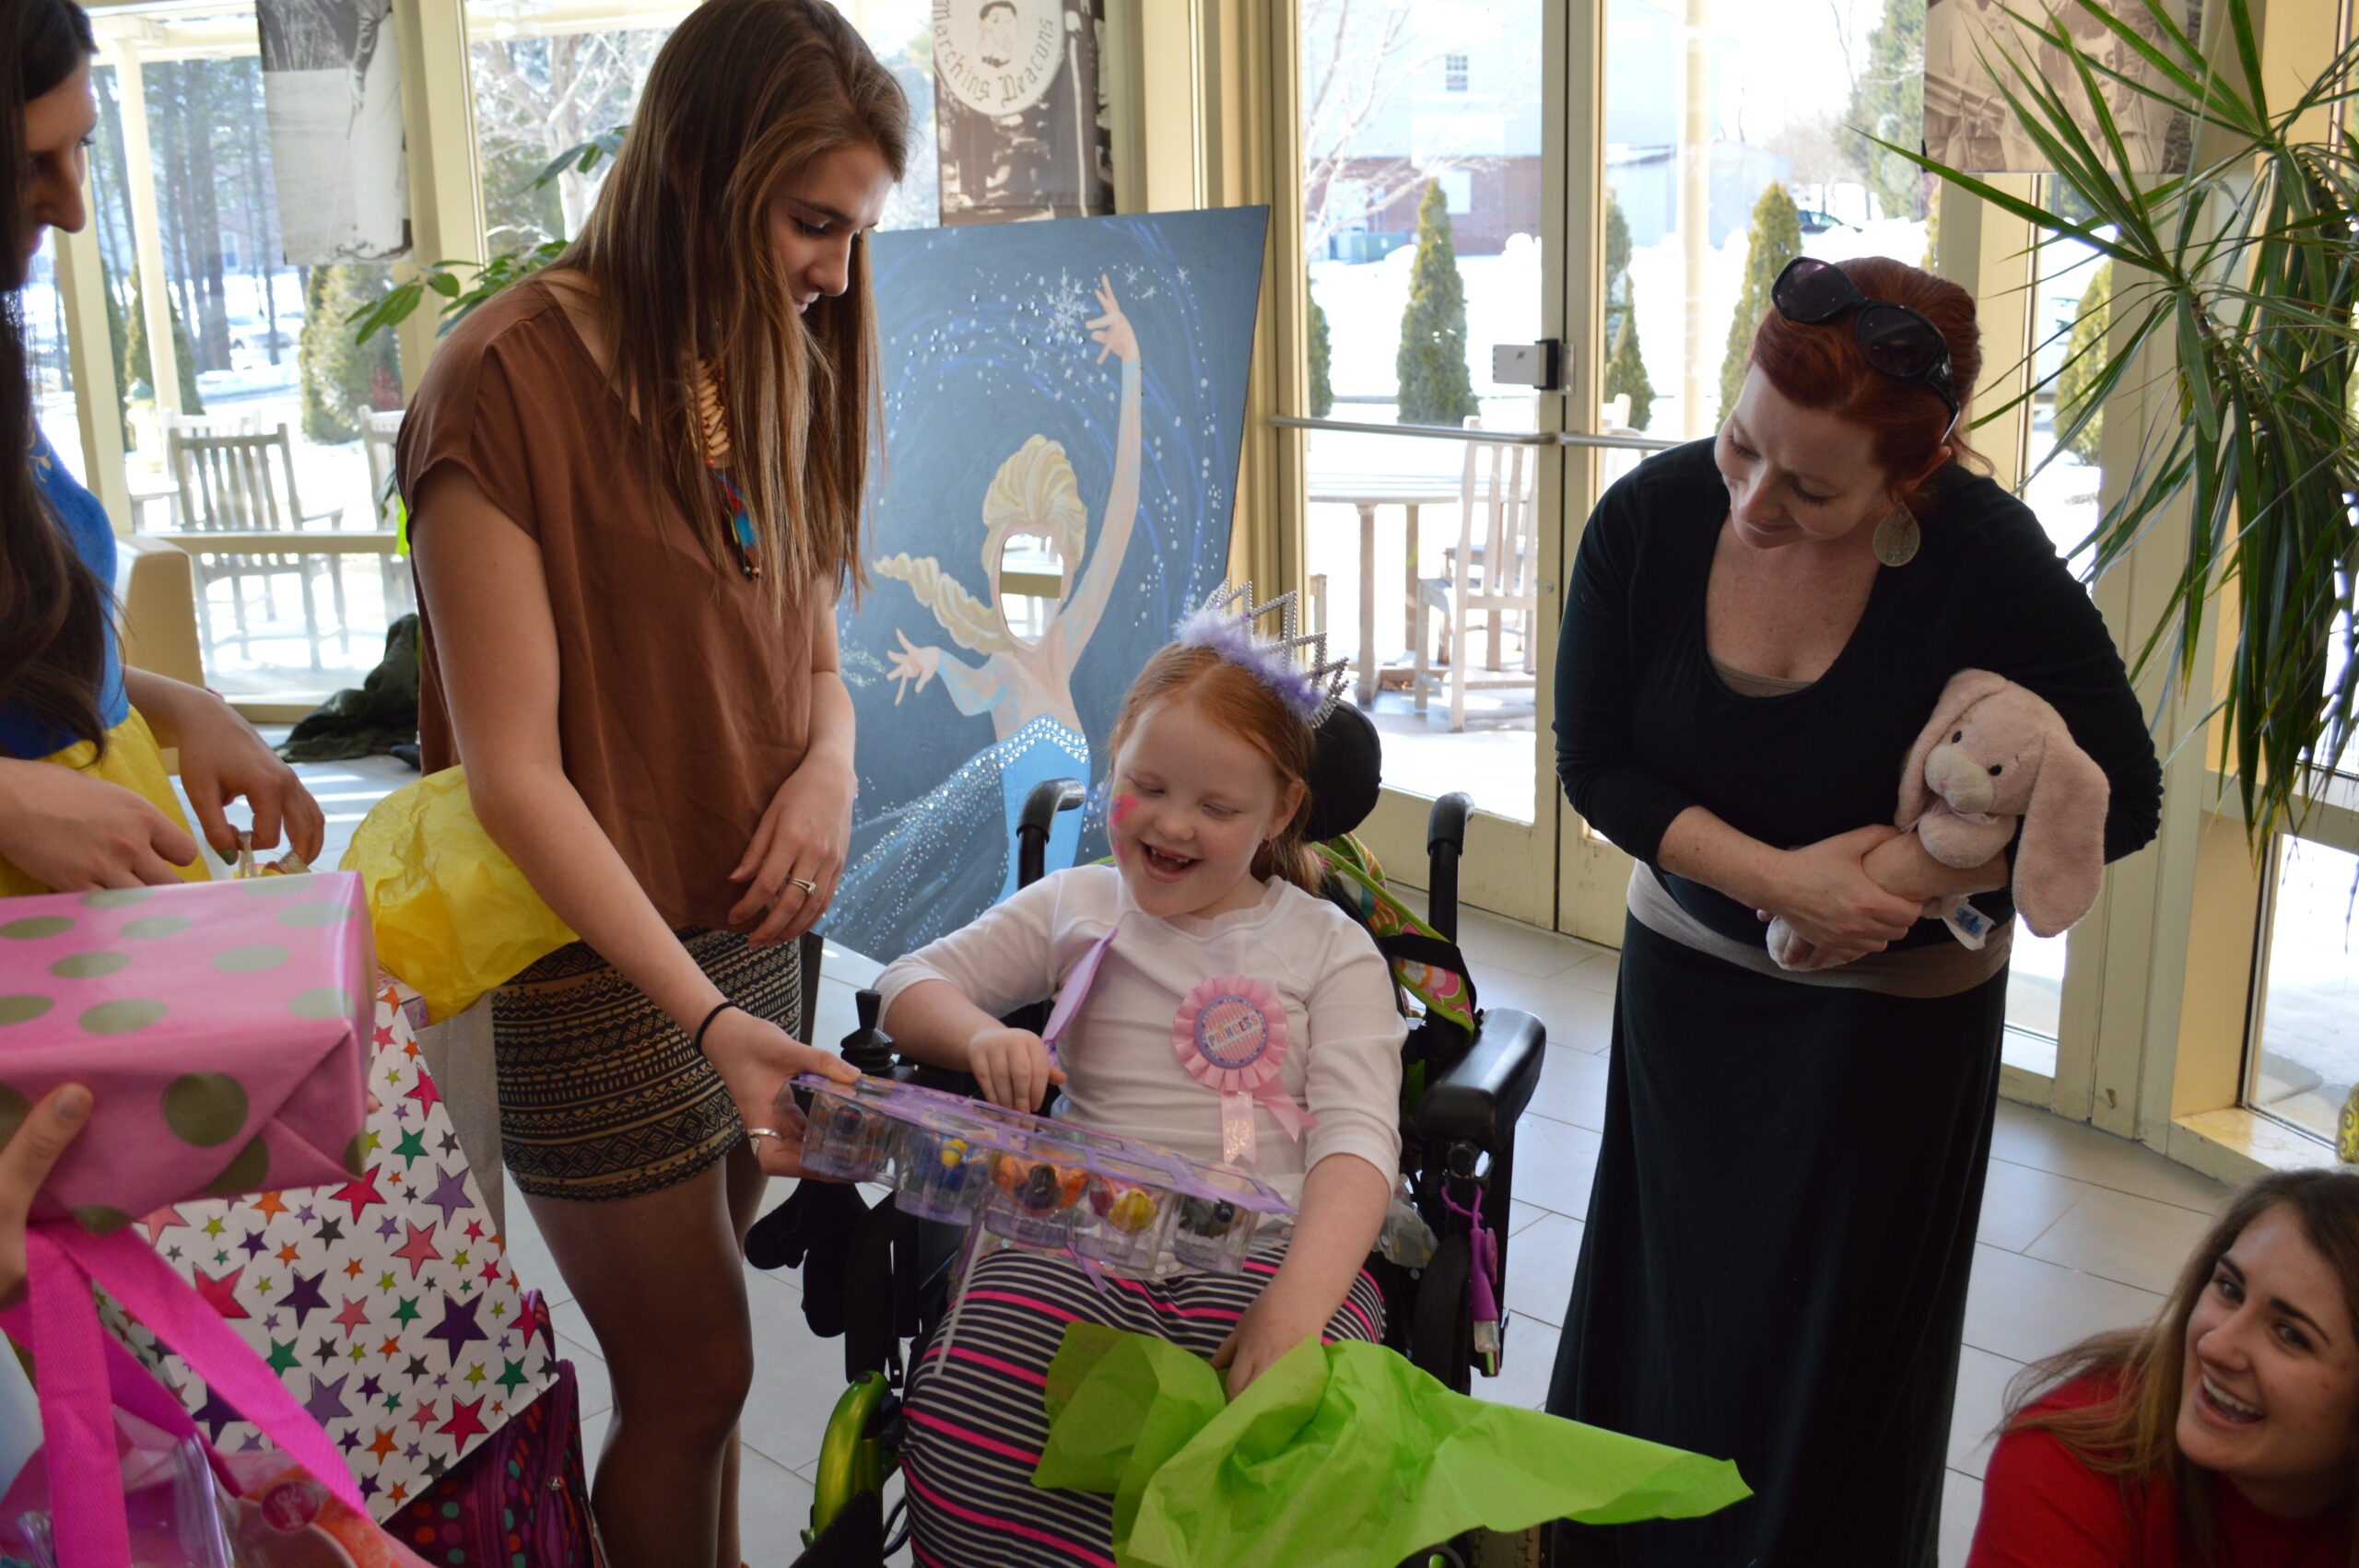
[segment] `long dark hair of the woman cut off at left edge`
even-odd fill
[[[109,587],[92,575],[33,483],[33,382],[24,347],[26,255],[33,250],[33,156],[24,108],[97,54],[73,0],[0,7],[0,698],[54,733],[106,747]]]

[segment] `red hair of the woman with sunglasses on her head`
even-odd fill
[[[1838,262],[1868,299],[1890,299],[1918,311],[1949,344],[1949,375],[1958,391],[1958,408],[1972,408],[1974,382],[1982,380],[1982,328],[1974,323],[1974,297],[1930,271],[1894,262],[1892,257],[1859,257]],[[1859,356],[1852,337],[1852,316],[1826,323],[1786,321],[1772,307],[1753,330],[1753,363],[1762,368],[1769,384],[1802,408],[1826,408],[1842,420],[1864,427],[1875,441],[1875,462],[1887,474],[1904,481],[1901,500],[1911,512],[1923,512],[1932,500],[1934,467],[1941,450],[1941,431],[1951,427],[1951,413],[1930,387],[1901,387],[1882,370]],[[1965,415],[1958,415],[1949,431],[1951,462],[1989,462],[1965,441]]]

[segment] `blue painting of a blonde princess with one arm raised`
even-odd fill
[[[1092,785],[1050,868],[1106,851],[1116,710],[1227,571],[1267,217],[868,241],[885,472],[837,627],[861,797],[833,941],[894,960],[998,903],[1045,778]]]

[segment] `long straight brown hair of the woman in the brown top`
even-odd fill
[[[656,54],[597,207],[557,259],[597,288],[616,389],[724,568],[694,391],[712,370],[731,479],[786,594],[863,580],[880,408],[868,248],[852,245],[842,297],[797,316],[771,241],[778,184],[840,146],[878,149],[894,179],[908,163],[908,99],[852,24],[821,0],[705,0]]]

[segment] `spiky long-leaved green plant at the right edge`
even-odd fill
[[[2234,641],[2215,714],[2260,842],[2300,818],[2312,771],[2333,766],[2352,740],[2359,698],[2359,139],[2340,130],[2321,137],[2309,125],[2359,94],[2359,42],[2293,104],[2272,108],[2250,0],[2222,0],[2222,61],[2206,57],[2166,0],[2135,5],[2151,26],[2116,17],[2109,0],[2059,0],[2100,24],[2102,42],[2133,54],[2130,68],[2052,17],[2012,9],[2019,40],[1984,54],[2024,134],[2095,212],[2090,222],[1920,151],[1878,146],[2114,262],[2111,299],[2090,307],[2109,311],[2109,330],[2057,396],[2057,450],[2107,398],[2137,387],[2133,377],[2154,363],[2142,358],[2149,347],[2173,349],[2168,417],[2140,431],[2128,483],[2085,540],[2090,575],[2184,509],[2180,575],[2163,618],[2144,632],[2137,667],[2168,653],[2170,679],[2196,689],[2206,615],[2232,592]],[[2064,71],[2038,71],[2031,40]],[[2189,165],[2133,174],[2107,87],[2187,116]],[[2041,377],[2033,391],[2059,375]]]

